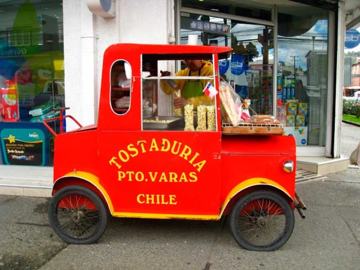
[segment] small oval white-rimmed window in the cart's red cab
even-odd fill
[[[131,66],[124,60],[116,61],[111,68],[111,108],[116,114],[125,114],[130,108]]]

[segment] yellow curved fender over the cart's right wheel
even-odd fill
[[[284,194],[286,194],[292,201],[294,201],[294,199],[290,196],[290,194],[286,191],[286,189],[283,186],[281,186],[280,184],[278,184],[277,182],[270,180],[270,179],[266,179],[266,178],[251,178],[251,179],[242,181],[241,183],[236,185],[234,188],[232,188],[231,191],[227,194],[224,204],[223,204],[223,207],[220,212],[220,217],[223,215],[227,204],[230,202],[230,200],[236,194],[238,194],[240,191],[242,191],[248,187],[256,186],[256,185],[270,185],[272,187],[275,187],[275,188],[281,190]]]

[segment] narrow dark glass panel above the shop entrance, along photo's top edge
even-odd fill
[[[266,3],[262,3],[262,8],[259,8],[249,6],[249,1],[241,0],[233,3],[229,3],[229,1],[224,1],[224,3],[222,3],[222,1],[219,0],[182,0],[181,6],[271,21],[271,5],[266,7]]]

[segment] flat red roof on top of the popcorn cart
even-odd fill
[[[219,59],[228,58],[231,47],[224,46],[203,46],[203,45],[154,45],[154,44],[114,44],[106,49],[106,53],[119,53],[119,51],[127,53],[140,54],[213,54],[218,53]],[[175,54],[175,55],[174,55]]]

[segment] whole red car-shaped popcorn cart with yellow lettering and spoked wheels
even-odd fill
[[[44,120],[55,135],[49,221],[64,241],[97,241],[108,215],[227,217],[234,239],[249,250],[275,250],[289,239],[294,209],[302,217],[305,209],[295,192],[295,140],[272,116],[249,114],[220,82],[219,60],[230,52],[197,45],[106,49],[97,124],[82,127],[63,115],[66,108]],[[79,129],[63,133],[64,118]],[[53,120],[59,134],[47,125]]]

